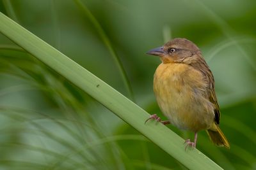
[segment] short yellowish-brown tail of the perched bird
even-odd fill
[[[224,136],[223,132],[221,132],[220,127],[216,125],[216,129],[214,130],[208,129],[207,134],[209,135],[211,141],[217,146],[225,146],[226,148],[230,148],[227,138]]]

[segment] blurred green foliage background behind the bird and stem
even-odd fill
[[[3,0],[0,11],[163,119],[160,60],[145,53],[190,39],[214,74],[230,141],[218,148],[202,131],[197,148],[224,169],[256,169],[256,1]],[[186,169],[2,34],[0,82],[0,169]]]

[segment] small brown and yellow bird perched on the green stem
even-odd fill
[[[200,130],[206,130],[214,144],[229,148],[218,127],[220,108],[214,78],[199,48],[188,39],[175,38],[147,53],[159,56],[162,61],[154,74],[154,93],[159,108],[168,120],[161,121],[155,114],[146,122],[156,119],[157,122],[195,132],[194,142],[190,139],[185,141],[187,146],[193,148]]]

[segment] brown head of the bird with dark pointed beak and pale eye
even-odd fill
[[[186,38],[175,38],[168,41],[163,46],[154,48],[147,52],[150,55],[157,55],[163,63],[180,62],[189,64],[193,56],[201,52],[199,48]]]

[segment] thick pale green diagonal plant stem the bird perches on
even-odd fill
[[[184,139],[163,124],[148,121],[145,125],[149,117],[146,111],[3,13],[0,13],[0,23],[0,32],[5,36],[87,92],[184,166],[189,169],[221,169],[198,150],[185,151]]]

